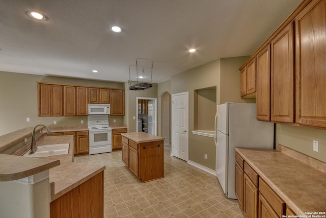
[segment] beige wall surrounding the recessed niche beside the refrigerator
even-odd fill
[[[214,138],[192,134],[194,130],[195,98],[197,89],[216,86],[216,104],[225,102],[250,103],[255,99],[240,99],[240,73],[238,68],[248,57],[222,58],[193,69],[186,70],[171,79],[171,94],[189,92],[188,111],[188,159],[210,169],[215,169]],[[214,108],[216,111],[216,107]],[[211,117],[214,119],[214,116]],[[207,154],[207,159],[204,159]]]

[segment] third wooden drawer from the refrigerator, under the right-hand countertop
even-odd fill
[[[271,189],[264,180],[259,178],[259,191],[262,193],[266,201],[270,204],[275,212],[282,217],[285,214],[285,203],[282,199]]]

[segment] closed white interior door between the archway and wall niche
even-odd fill
[[[188,92],[172,95],[172,154],[188,160]]]

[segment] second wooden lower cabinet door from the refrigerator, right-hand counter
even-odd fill
[[[243,211],[248,218],[257,218],[258,215],[258,189],[244,173]]]

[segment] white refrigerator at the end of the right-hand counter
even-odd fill
[[[235,148],[273,149],[274,124],[256,119],[256,104],[218,105],[215,116],[216,176],[225,195],[235,196]]]

